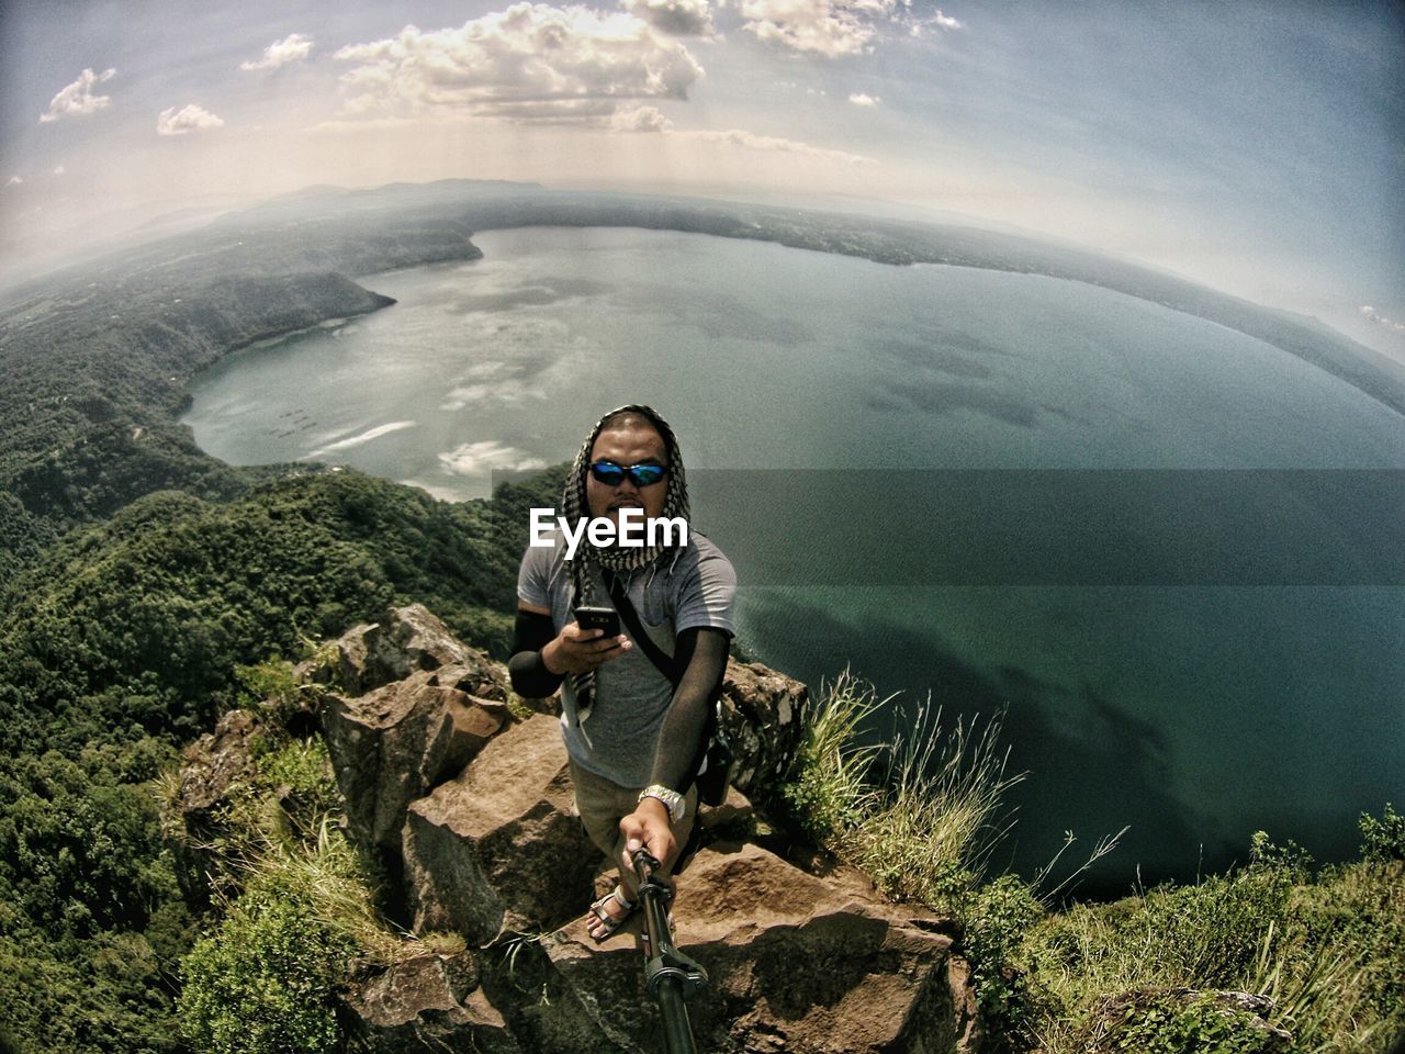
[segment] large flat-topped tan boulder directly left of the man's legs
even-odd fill
[[[414,801],[405,824],[416,932],[486,944],[503,929],[555,929],[592,899],[604,859],[575,808],[561,725],[507,728],[451,783]]]

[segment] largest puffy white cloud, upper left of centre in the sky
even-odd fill
[[[603,124],[629,100],[687,98],[702,76],[681,44],[634,14],[530,3],[457,30],[406,25],[336,58],[353,63],[341,80],[354,114]]]

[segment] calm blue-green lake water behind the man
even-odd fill
[[[905,693],[899,722],[929,691],[948,717],[1007,707],[1003,742],[1030,776],[999,863],[1031,870],[1068,828],[1090,843],[1131,824],[1092,884],[1118,891],[1138,866],[1149,881],[1242,859],[1257,828],[1346,856],[1359,811],[1405,802],[1398,585],[1161,585],[1177,579],[1156,551],[1114,583],[874,573],[951,537],[902,514],[884,472],[910,471],[898,479],[940,510],[954,476],[916,469],[1405,468],[1399,415],[1250,337],[1048,278],[639,230],[475,242],[483,260],[364,282],[393,308],[200,378],[200,444],[462,499],[493,469],[568,460],[604,409],[653,403],[702,528],[735,554],[795,557],[790,573],[738,561],[763,659],[811,683],[851,663]],[[1009,510],[981,514],[968,545],[1007,527]],[[843,554],[815,557],[840,530]],[[1089,530],[1052,549],[1076,568],[1102,544]]]

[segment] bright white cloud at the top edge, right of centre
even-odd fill
[[[826,58],[860,55],[882,25],[908,25],[912,35],[926,27],[960,30],[961,22],[940,11],[913,18],[913,0],[736,0],[757,39]]]

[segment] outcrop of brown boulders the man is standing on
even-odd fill
[[[303,676],[348,833],[388,864],[388,912],[461,935],[454,956],[368,970],[344,995],[362,1051],[656,1051],[638,919],[596,946],[583,913],[613,873],[586,838],[554,718],[514,720],[506,672],[423,607],[357,627]],[[783,856],[747,832],[799,746],[805,687],[731,663],[724,728],[733,790],[698,822],[679,877],[676,942],[710,987],[688,1003],[700,1048],[975,1051],[969,971],[950,928],[885,902],[812,847]],[[187,757],[187,825],[249,774],[250,715],[226,715]],[[742,791],[762,795],[757,805]]]

